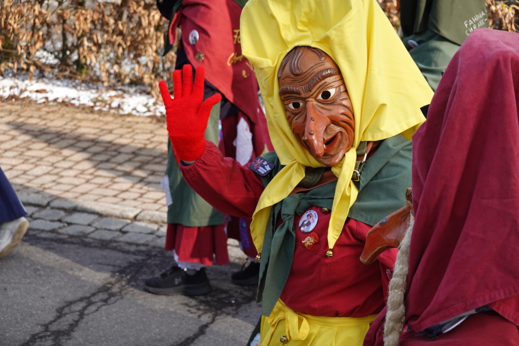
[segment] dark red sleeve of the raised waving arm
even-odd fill
[[[180,165],[182,176],[214,209],[237,217],[252,217],[264,190],[259,175],[247,164],[223,157],[218,148],[206,141],[206,149],[193,164]]]

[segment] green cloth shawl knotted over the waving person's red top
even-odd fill
[[[283,166],[276,153],[263,156],[274,169],[262,177],[267,185]],[[318,186],[308,192],[293,193],[272,207],[265,230],[260,265],[257,301],[263,301],[262,314],[269,316],[281,295],[294,259],[294,218],[310,207],[332,208],[337,182]],[[381,218],[405,205],[405,190],[411,186],[411,142],[402,135],[384,140],[362,170],[356,183],[359,196],[350,208],[349,218],[375,225]],[[281,225],[276,227],[281,219]],[[360,260],[359,260],[360,261]]]

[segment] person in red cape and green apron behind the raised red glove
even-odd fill
[[[176,50],[176,68],[185,64],[206,70],[203,99],[221,94],[220,107],[209,117],[206,139],[222,155],[247,163],[271,150],[265,115],[258,101],[252,65],[242,56],[239,18],[246,1],[158,0],[161,14],[170,20],[166,53]],[[177,27],[181,36],[177,37]],[[176,91],[176,90],[174,90]],[[174,96],[178,97],[176,92]],[[156,294],[206,294],[211,290],[205,266],[229,261],[227,237],[240,240],[251,262],[233,274],[239,285],[256,284],[259,264],[254,259],[250,218],[225,215],[190,188],[169,146],[166,177],[162,182],[168,200],[166,250],[173,250],[176,264],[159,277],[148,279],[145,289]]]

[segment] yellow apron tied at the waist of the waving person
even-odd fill
[[[360,318],[297,313],[278,299],[269,317],[262,317],[261,346],[362,346],[377,314]],[[283,342],[284,341],[284,342]]]

